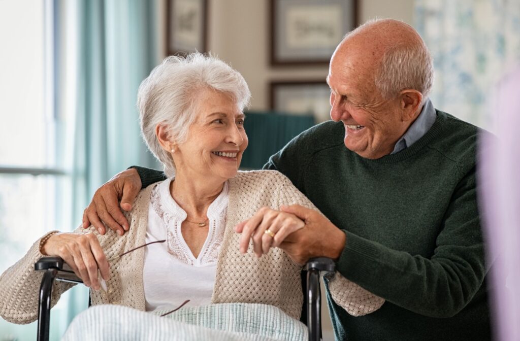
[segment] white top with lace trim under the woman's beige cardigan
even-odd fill
[[[187,214],[170,194],[173,179],[160,182],[151,191],[146,242],[166,240],[145,248],[143,282],[146,310],[173,309],[186,299],[188,306],[211,303],[218,252],[224,238],[228,184],[207,209],[209,231],[196,258],[181,232]]]

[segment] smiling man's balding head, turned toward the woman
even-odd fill
[[[432,58],[410,25],[373,20],[337,46],[327,82],[331,118],[345,125],[345,146],[379,159],[417,119],[433,83]]]

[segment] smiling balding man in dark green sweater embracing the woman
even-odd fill
[[[280,247],[299,263],[332,257],[343,277],[386,299],[378,311],[352,317],[327,290],[336,339],[490,339],[475,188],[479,130],[433,108],[432,80],[431,56],[412,27],[362,25],[330,62],[334,122],[303,132],[265,166],[288,176],[329,219],[282,207],[306,225]],[[100,217],[127,229],[117,198],[129,209],[141,186],[162,178],[138,171],[140,178],[127,170],[98,190],[84,224],[103,231]],[[268,211],[237,227],[257,250],[266,238],[255,231]]]

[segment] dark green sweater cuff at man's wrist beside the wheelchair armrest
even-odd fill
[[[347,235],[345,248],[336,262],[336,270],[353,282],[367,279],[374,271],[374,259],[379,250],[373,242],[356,234],[344,231]]]

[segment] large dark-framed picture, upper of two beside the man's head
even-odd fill
[[[271,64],[326,64],[357,23],[357,0],[271,0]]]

